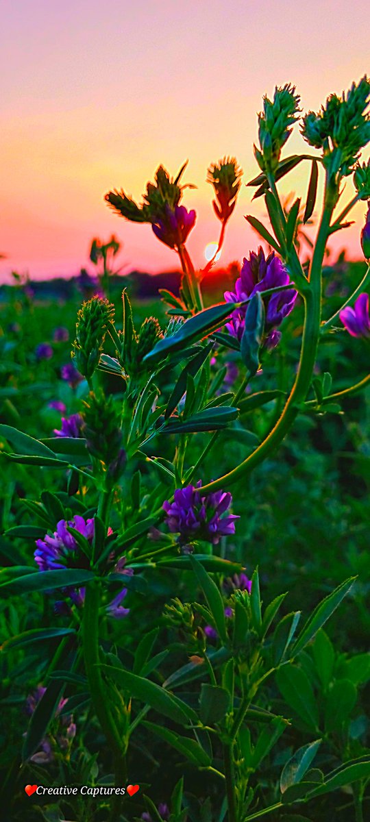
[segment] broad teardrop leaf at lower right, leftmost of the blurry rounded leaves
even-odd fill
[[[276,672],[276,681],[285,702],[303,722],[317,732],[319,715],[311,682],[301,668],[284,665]]]

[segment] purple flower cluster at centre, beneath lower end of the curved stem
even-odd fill
[[[166,523],[171,533],[178,533],[178,543],[191,543],[195,539],[204,539],[207,543],[217,545],[220,537],[235,533],[237,515],[222,515],[233,501],[230,493],[216,491],[208,496],[201,496],[199,488],[188,485],[178,488],[173,495],[173,502],[165,501],[163,508],[167,514]]]

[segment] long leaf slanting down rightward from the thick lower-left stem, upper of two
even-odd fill
[[[123,668],[116,668],[111,665],[100,665],[99,667],[134,699],[145,702],[158,713],[173,719],[173,722],[179,725],[187,725],[189,722],[197,724],[197,713],[189,708],[183,700],[179,700],[178,696],[170,694],[164,688],[156,685],[155,682],[144,679],[144,677],[138,677]]]

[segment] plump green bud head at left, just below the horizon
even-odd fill
[[[77,314],[72,357],[77,370],[86,379],[90,379],[99,365],[107,328],[113,317],[113,304],[100,297],[84,302]]]

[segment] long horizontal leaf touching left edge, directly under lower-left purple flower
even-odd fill
[[[58,570],[37,571],[35,574],[20,576],[1,585],[2,594],[53,591],[58,588],[76,588],[94,580],[90,570],[66,568]]]

